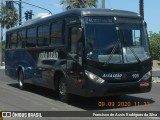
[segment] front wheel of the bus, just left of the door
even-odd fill
[[[59,99],[62,102],[69,102],[69,93],[67,93],[67,84],[66,80],[64,77],[61,77],[59,80],[59,85],[58,85],[58,94],[59,94]]]

